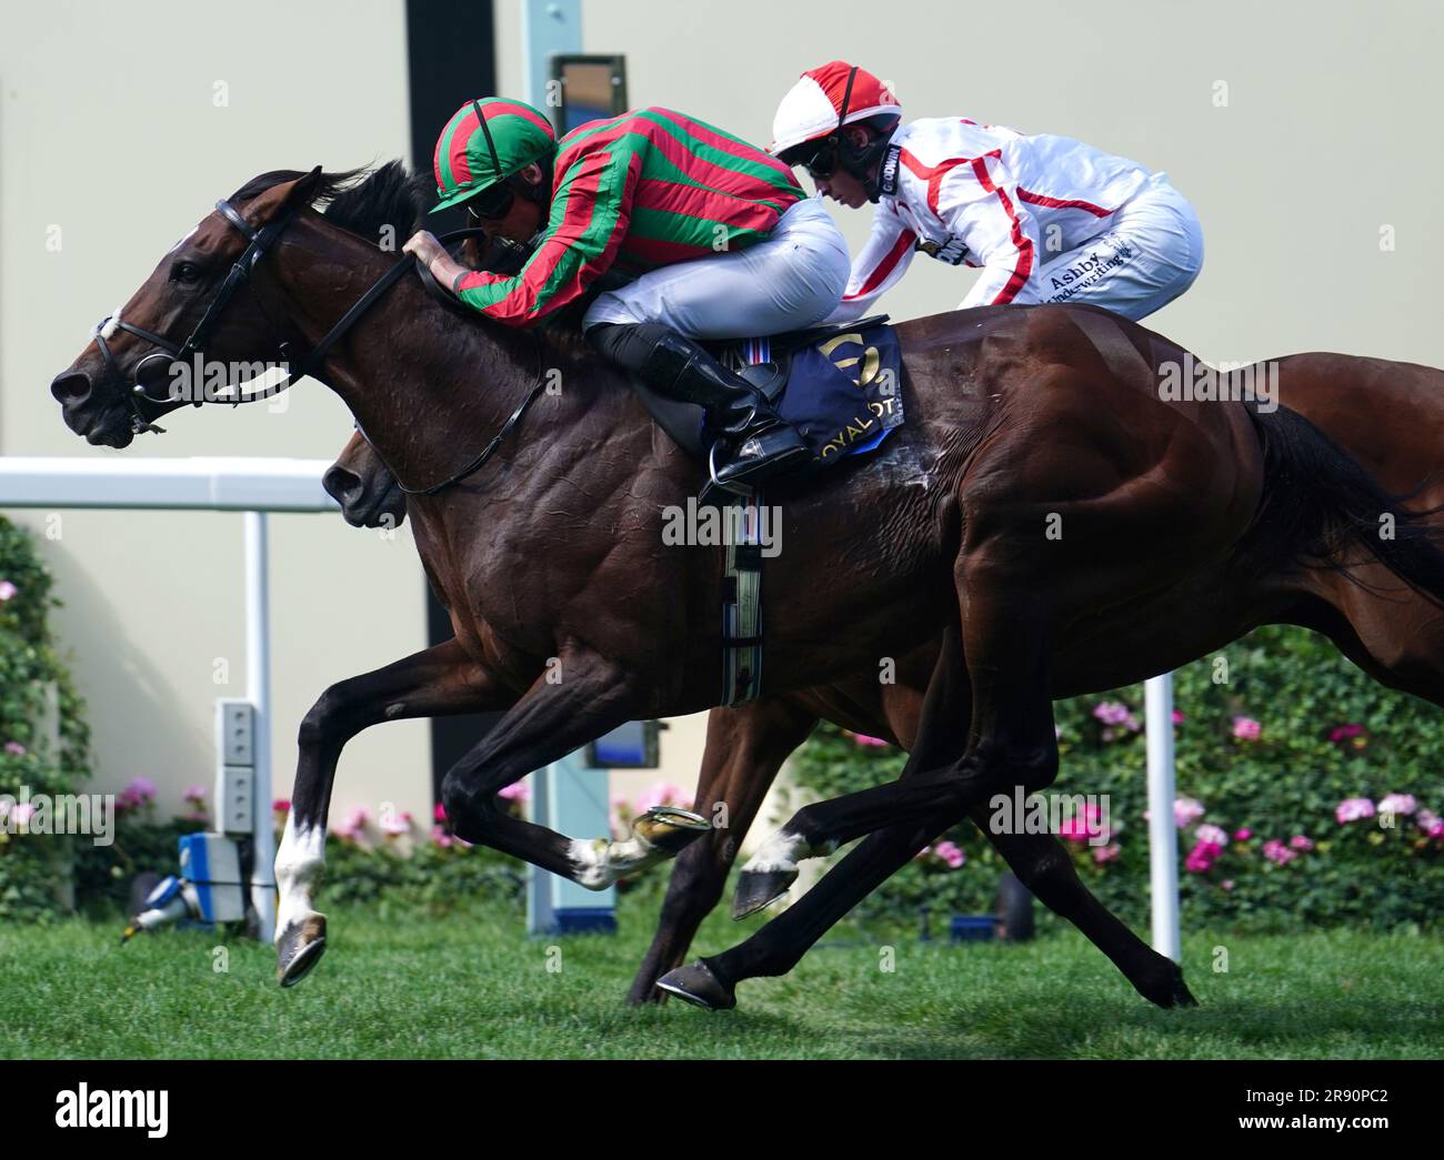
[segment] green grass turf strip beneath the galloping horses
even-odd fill
[[[1184,967],[1201,1006],[1160,1011],[1079,935],[1025,945],[920,945],[895,971],[875,945],[817,948],[787,978],[738,990],[735,1011],[622,996],[651,933],[651,900],[617,938],[524,938],[478,909],[442,919],[348,909],[299,987],[269,948],[169,932],[117,945],[79,919],[0,931],[6,1058],[1438,1058],[1444,941],[1311,931],[1196,933]],[[713,916],[705,952],[755,922]],[[855,933],[855,932],[853,932]],[[549,972],[547,946],[562,946]],[[1212,970],[1213,948],[1227,972]]]

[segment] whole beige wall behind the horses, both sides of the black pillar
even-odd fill
[[[501,89],[520,94],[520,0],[497,7]],[[0,450],[113,454],[62,427],[49,378],[217,196],[263,169],[406,151],[403,6],[253,0],[240,26],[230,16],[241,10],[179,0],[7,9]],[[833,56],[891,79],[910,117],[1083,137],[1167,170],[1199,208],[1203,276],[1157,329],[1210,359],[1327,348],[1444,365],[1437,7],[588,0],[583,32],[588,50],[627,53],[634,104],[671,104],[758,143],[797,74]],[[215,81],[230,85],[227,108],[212,104]],[[856,247],[866,215],[839,221]],[[46,248],[52,225],[59,252]],[[1385,225],[1393,252],[1379,248]],[[918,260],[884,307],[949,309],[970,277]],[[329,457],[349,424],[308,384],[284,414],[185,413],[169,426],[134,453]],[[315,694],[419,648],[425,625],[404,531],[384,542],[332,517],[271,522],[284,788]],[[244,688],[240,537],[231,515],[69,512],[46,544],[103,785],[146,775],[173,801],[209,782],[211,700]],[[228,688],[211,682],[215,658],[231,661]],[[663,734],[661,776],[693,783],[700,727]],[[373,730],[348,750],[336,807],[423,812],[427,773],[425,724]],[[628,775],[618,789],[654,779]]]

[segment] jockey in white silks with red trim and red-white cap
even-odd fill
[[[804,72],[777,108],[774,154],[823,196],[878,203],[829,322],[865,315],[918,251],[982,267],[959,309],[1079,302],[1141,319],[1199,276],[1203,231],[1165,175],[1069,137],[901,120],[891,89],[843,61]]]

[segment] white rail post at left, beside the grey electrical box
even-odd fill
[[[245,512],[245,697],[256,713],[256,785],[251,801],[251,906],[257,938],[276,936],[276,831],[271,827],[270,587],[266,512]]]

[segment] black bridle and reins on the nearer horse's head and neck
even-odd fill
[[[126,375],[120,368],[120,361],[116,358],[108,343],[105,342],[104,332],[107,328],[111,326],[111,323],[114,323],[116,330],[124,330],[129,335],[134,335],[136,338],[149,342],[152,346],[160,348],[157,352],[149,353],[144,358],[142,358],[130,374],[131,387],[126,392],[126,397],[133,411],[131,431],[134,434],[140,434],[142,431],[163,430],[162,427],[156,427],[155,423],[146,418],[140,407],[142,401],[162,407],[176,401],[173,394],[168,395],[166,398],[156,398],[152,394],[149,394],[146,391],[144,384],[142,382],[140,368],[144,366],[152,359],[165,359],[169,365],[173,366],[176,362],[185,364],[193,355],[204,356],[205,342],[211,338],[211,332],[219,322],[221,312],[225,310],[231,299],[235,297],[235,291],[240,290],[243,284],[247,284],[250,281],[250,276],[256,270],[257,263],[260,263],[260,260],[266,257],[266,252],[280,237],[282,231],[287,225],[290,225],[292,221],[292,214],[287,209],[282,216],[267,222],[260,229],[256,229],[248,221],[245,221],[245,218],[241,216],[240,211],[237,211],[237,208],[224,198],[215,203],[215,208],[221,212],[221,216],[225,218],[227,222],[230,222],[232,227],[235,227],[235,229],[241,232],[241,235],[247,241],[247,245],[245,250],[241,252],[241,255],[235,260],[235,264],[231,267],[230,273],[225,276],[225,281],[221,283],[221,289],[217,290],[215,297],[206,307],[205,315],[202,315],[201,320],[195,325],[195,329],[191,332],[191,336],[178,346],[163,335],[157,335],[153,330],[146,330],[140,326],[129,323],[124,319],[117,319],[114,316],[105,317],[95,328],[95,332],[92,335],[95,343],[100,346],[101,355],[105,358],[107,368],[121,382],[126,381]],[[461,238],[477,237],[485,232],[487,232],[485,229],[475,229],[475,228],[453,229],[449,234],[442,234],[438,238],[438,241],[442,245],[446,245],[448,242],[459,241]],[[380,299],[387,290],[396,286],[396,283],[399,283],[401,277],[412,268],[416,268],[414,260],[412,258],[410,254],[403,254],[391,265],[391,268],[387,270],[380,278],[377,278],[377,281],[373,283],[371,287],[357,300],[357,303],[349,310],[347,310],[345,315],[341,316],[341,320],[336,322],[336,325],[326,332],[325,338],[322,338],[321,342],[318,342],[309,352],[306,352],[305,358],[302,358],[300,365],[296,369],[290,369],[290,343],[286,340],[276,342],[274,343],[276,351],[282,356],[283,365],[286,365],[287,368],[284,377],[279,382],[274,382],[270,387],[264,387],[257,391],[235,390],[230,395],[217,395],[214,398],[206,398],[204,390],[196,390],[193,391],[193,397],[186,401],[195,407],[201,407],[206,403],[224,403],[231,407],[238,407],[243,403],[257,403],[258,400],[270,398],[271,395],[280,394],[287,387],[293,385],[296,379],[305,378],[306,375],[319,378],[316,372],[321,368],[321,364],[325,361],[326,355],[331,353],[331,349],[345,336],[345,333],[352,326],[355,326],[357,322],[360,322],[361,316],[365,315],[365,312],[375,304],[377,299]],[[254,294],[254,287],[253,287],[253,296],[256,297],[257,307],[260,307],[261,310],[261,316],[266,317],[267,325],[270,325],[270,317],[266,316],[264,307],[260,306],[260,296]],[[536,403],[537,397],[542,394],[542,390],[546,385],[543,374],[544,355],[542,348],[542,339],[534,333],[531,338],[536,342],[536,352],[537,352],[536,382],[527,392],[526,398],[521,400],[517,408],[507,418],[507,421],[501,424],[501,430],[495,434],[495,437],[482,449],[481,454],[478,454],[471,463],[468,463],[455,475],[451,475],[446,479],[443,479],[440,483],[433,483],[427,488],[409,488],[400,479],[396,479],[397,488],[406,492],[406,495],[435,495],[436,492],[449,488],[452,483],[458,483],[466,476],[481,470],[481,467],[487,463],[487,460],[491,459],[491,456],[501,446],[503,440],[505,440],[505,437],[511,433],[511,430],[521,421],[521,417],[530,410],[531,404]],[[360,420],[357,421],[357,430],[361,431],[361,437],[365,439],[367,443],[371,443],[371,437],[364,430],[361,430]],[[373,449],[375,447],[374,443],[371,443],[371,446]],[[391,475],[393,478],[396,478],[396,472],[391,472]]]

